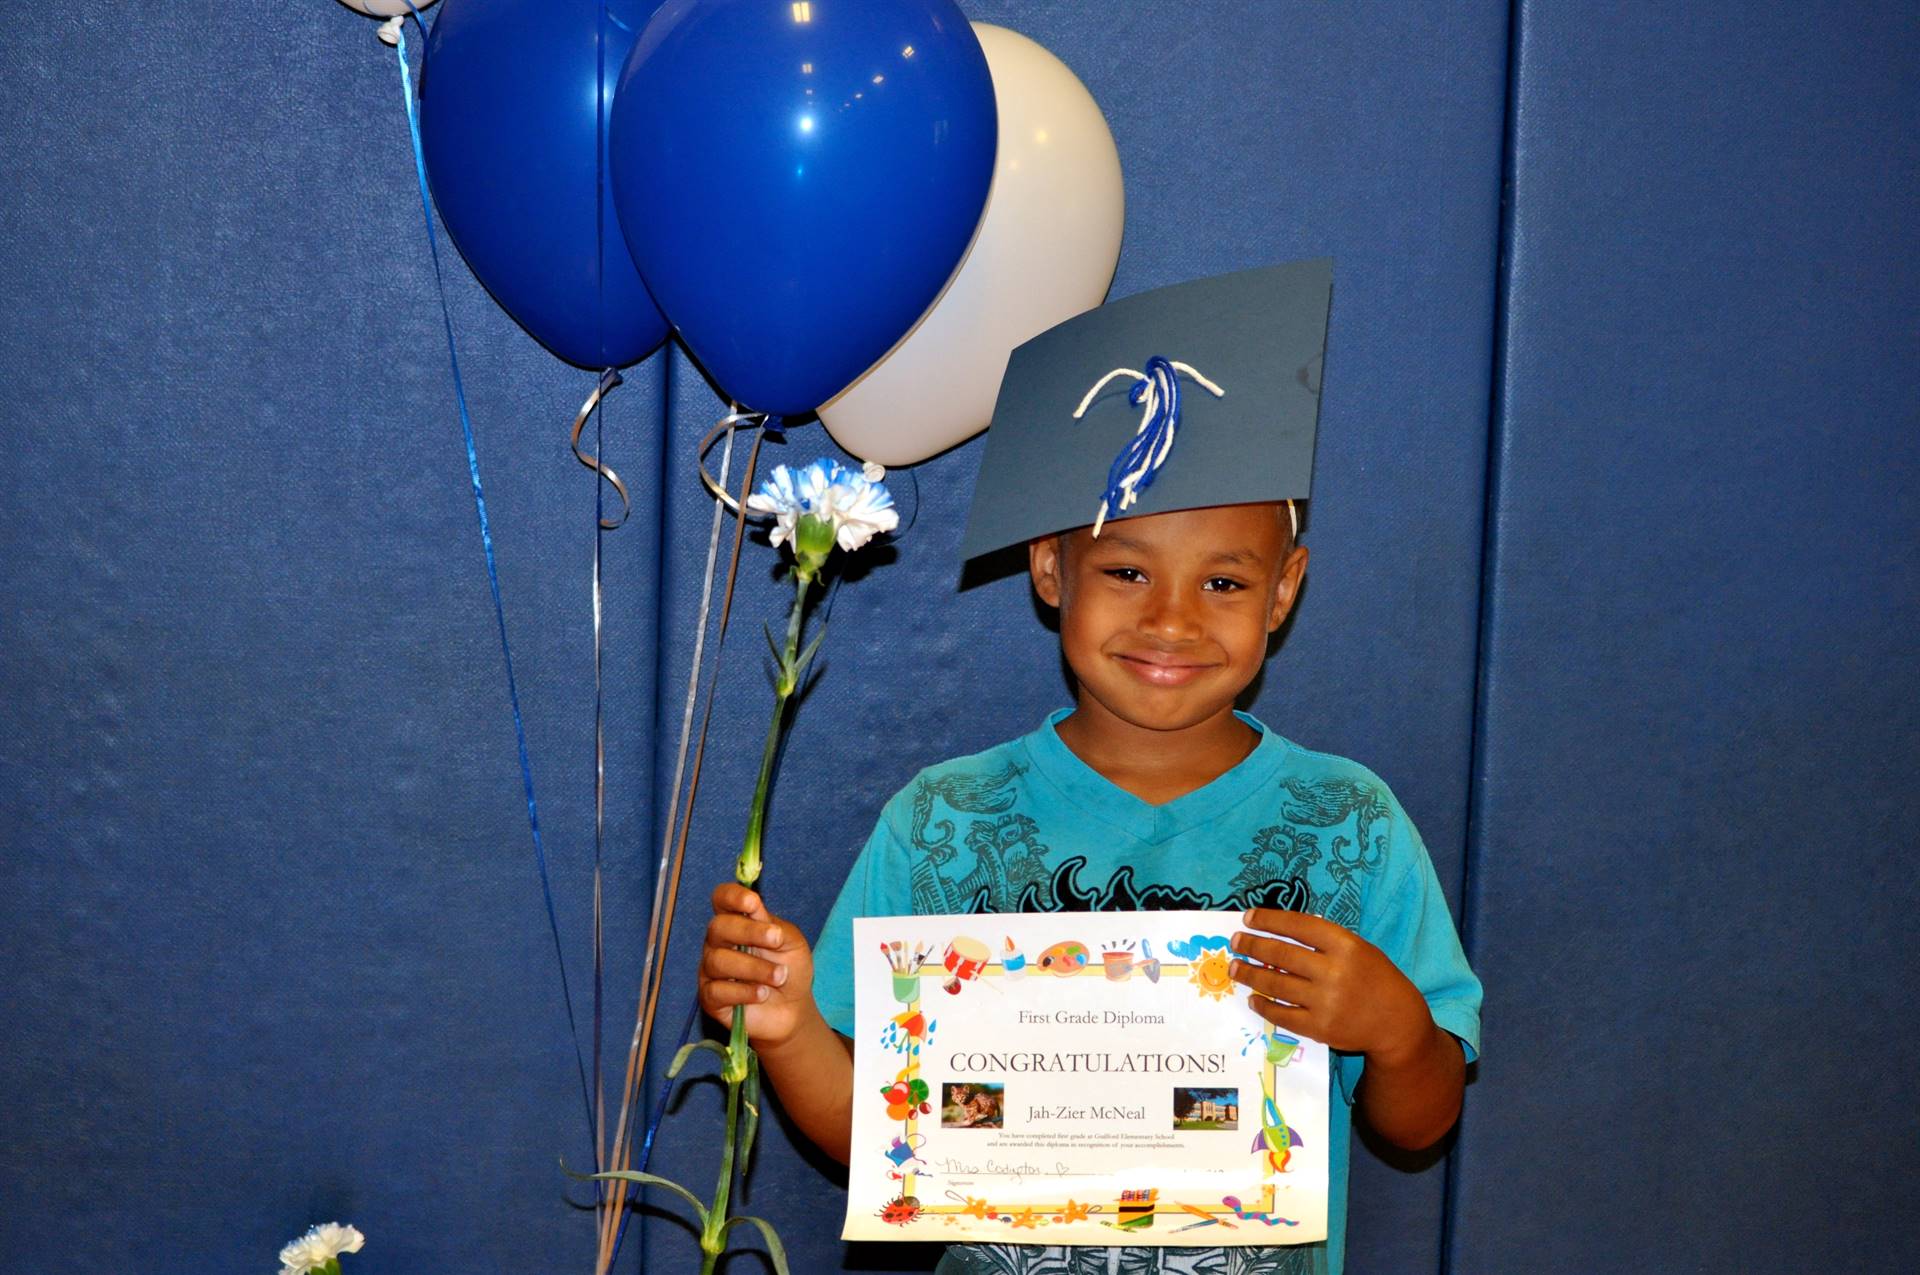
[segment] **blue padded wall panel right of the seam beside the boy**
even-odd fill
[[[1920,21],[1519,36],[1452,1265],[1920,1269]]]

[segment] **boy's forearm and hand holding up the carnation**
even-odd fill
[[[747,1006],[747,1039],[780,1106],[820,1150],[847,1164],[852,1045],[814,1004],[806,937],[745,885],[716,887],[712,904],[701,952],[701,1008],[730,1023],[733,1006]]]

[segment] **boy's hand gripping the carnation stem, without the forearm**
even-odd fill
[[[745,885],[718,885],[701,950],[701,1008],[730,1023],[743,1004],[755,1046],[778,1046],[818,1012],[812,987],[814,952],[801,929],[770,914]]]

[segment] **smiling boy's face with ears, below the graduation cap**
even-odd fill
[[[1233,710],[1286,620],[1308,551],[1286,507],[1183,509],[1044,536],[1027,545],[1033,589],[1060,609],[1079,709],[1146,730]]]

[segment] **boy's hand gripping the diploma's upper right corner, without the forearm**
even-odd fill
[[[1248,908],[1246,926],[1296,941],[1233,935],[1235,954],[1260,962],[1235,960],[1233,977],[1258,993],[1248,1002],[1269,1023],[1386,1064],[1427,1048],[1432,1012],[1386,952],[1306,912]]]

